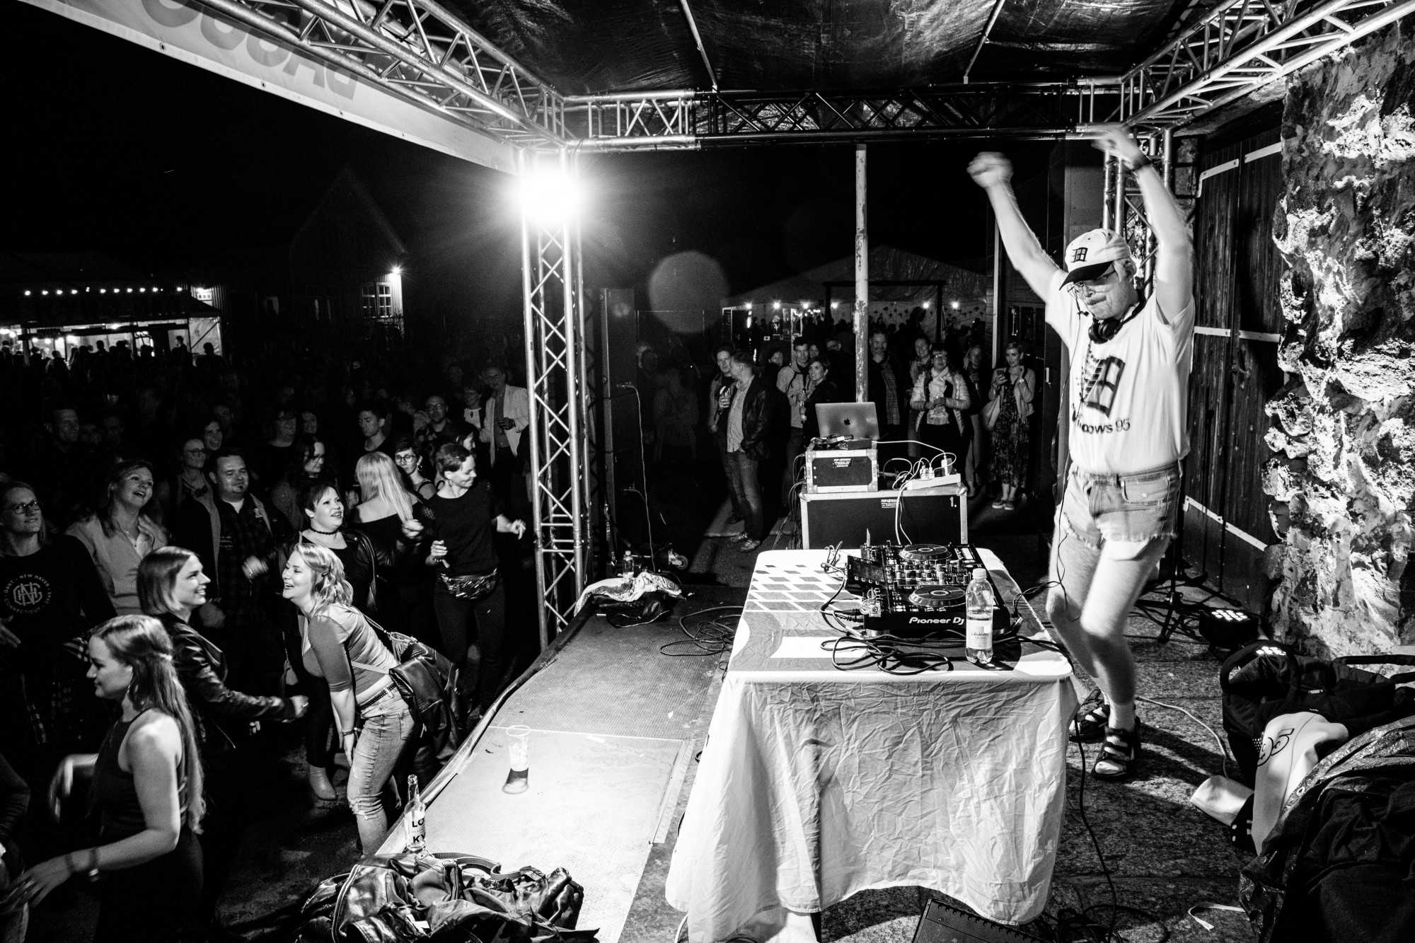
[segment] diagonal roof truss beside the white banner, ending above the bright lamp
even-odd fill
[[[432,0],[195,0],[511,144],[559,146],[559,92]]]

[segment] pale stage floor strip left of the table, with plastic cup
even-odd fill
[[[563,867],[584,885],[579,926],[599,927],[603,943],[671,940],[681,915],[664,902],[664,879],[726,653],[659,647],[685,639],[679,617],[746,596],[688,592],[648,626],[590,616],[538,658],[430,784],[429,851],[483,855],[505,871]],[[518,794],[502,791],[512,725],[531,728],[528,789]],[[402,847],[393,828],[383,851]]]

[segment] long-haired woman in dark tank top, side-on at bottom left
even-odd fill
[[[201,760],[167,630],[151,616],[119,616],[93,630],[89,671],[98,697],[122,716],[96,755],[71,755],[50,787],[69,794],[91,773],[100,844],[30,868],[16,891],[37,903],[76,874],[103,874],[98,927],[103,943],[181,939],[201,902],[204,811]]]

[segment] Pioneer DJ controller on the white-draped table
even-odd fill
[[[860,598],[866,634],[916,639],[964,630],[964,590],[983,566],[972,544],[866,544],[846,558],[845,588]],[[992,583],[992,576],[988,576]],[[992,586],[993,633],[1007,629],[1002,595]]]

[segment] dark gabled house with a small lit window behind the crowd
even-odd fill
[[[406,256],[388,217],[345,167],[290,239],[289,296],[263,297],[262,314],[357,340],[399,338]],[[290,310],[280,310],[286,303]]]

